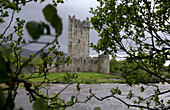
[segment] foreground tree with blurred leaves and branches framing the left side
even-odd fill
[[[45,0],[41,0],[40,2],[44,1]],[[21,17],[15,19],[14,15],[15,13],[19,13],[22,7],[30,2],[37,2],[37,0],[0,0],[0,26],[7,24],[6,27],[3,27],[4,30],[1,30],[2,33],[0,34],[0,84],[6,84],[6,87],[0,87],[0,110],[14,109],[14,100],[18,94],[17,90],[20,83],[24,84],[30,102],[34,102],[34,110],[65,109],[78,102],[76,96],[70,96],[70,101],[68,102],[59,97],[62,91],[70,84],[54,95],[49,96],[48,90],[46,93],[41,92],[41,88],[44,87],[43,84],[50,86],[52,81],[48,79],[47,75],[50,69],[58,66],[59,62],[55,61],[55,58],[61,55],[61,52],[58,51],[59,42],[57,39],[62,33],[62,20],[58,16],[55,6],[57,6],[58,3],[63,3],[63,0],[53,0],[53,5],[49,4],[43,9],[43,14],[48,24],[37,21],[29,21],[26,23],[26,29],[33,39],[32,41],[26,42],[23,38],[25,20]],[[11,26],[12,23],[15,24],[14,27]],[[51,33],[51,27],[55,30],[54,35]],[[9,29],[12,30],[12,32],[8,31]],[[37,41],[42,35],[52,36],[54,40],[52,42]],[[29,58],[24,58],[21,55],[22,48],[32,43],[44,44],[44,46],[37,53],[30,54]],[[4,44],[8,44],[8,48],[6,48]],[[36,56],[50,45],[52,46],[48,48],[49,52],[44,52],[42,59],[37,59]],[[53,53],[54,56],[49,56],[51,53]],[[69,61],[70,59],[68,57],[67,62]],[[37,68],[31,72],[29,77],[25,77],[22,70],[32,63],[36,63],[34,66]],[[31,83],[29,79],[34,77],[34,73],[39,74],[38,77],[44,77],[44,81],[37,84]],[[63,81],[67,81],[70,78],[77,78],[77,76],[67,73],[64,78]],[[79,90],[80,87],[77,85],[77,91]]]

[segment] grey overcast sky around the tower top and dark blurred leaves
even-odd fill
[[[50,3],[51,0],[46,0],[44,3],[28,3],[22,8],[22,11],[16,15],[28,21],[45,21],[42,9]],[[61,45],[61,50],[68,52],[68,15],[75,15],[77,19],[81,21],[85,20],[86,17],[91,17],[92,14],[89,13],[90,7],[96,8],[98,5],[97,0],[67,0],[63,4],[59,4],[57,7],[58,14],[62,18],[63,22],[63,32],[59,37],[59,43]],[[31,40],[27,31],[24,31],[24,37],[26,40]],[[41,41],[50,41],[52,38],[44,36],[41,37]],[[90,31],[90,42],[97,43],[98,37],[97,33],[94,30]],[[38,50],[40,46],[30,45],[27,46],[27,49]],[[90,54],[96,54],[95,51],[90,49]]]

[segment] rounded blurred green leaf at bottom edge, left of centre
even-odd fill
[[[48,104],[43,98],[37,99],[33,104],[34,110],[47,110]]]

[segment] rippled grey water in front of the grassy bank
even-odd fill
[[[170,86],[168,84],[162,85],[157,84],[160,87],[160,91],[166,91],[170,89]],[[53,84],[51,87],[50,94],[58,93],[61,91],[64,87],[66,87],[67,84]],[[76,91],[76,85],[73,84],[69,86],[67,89],[65,89],[62,94],[60,95],[61,98],[64,98],[65,100],[70,100],[70,97],[72,95],[77,95],[78,99],[80,101],[84,101],[86,99],[86,96],[88,96],[89,90],[92,89],[93,93],[96,93],[96,96],[101,98],[110,95],[110,90],[112,88],[118,87],[122,91],[122,96],[118,96],[119,98],[123,99],[125,102],[132,104],[132,102],[135,100],[128,100],[126,99],[127,94],[129,93],[129,90],[132,90],[135,95],[148,97],[149,95],[152,95],[154,93],[154,89],[156,87],[147,87],[147,90],[144,93],[140,93],[140,87],[143,85],[137,85],[137,86],[127,86],[126,84],[82,84],[81,85],[81,92]],[[18,96],[16,97],[16,108],[24,108],[24,110],[32,110],[32,104],[29,103],[29,98],[26,96],[26,91],[24,89],[20,89],[18,91]],[[170,99],[170,93],[164,94],[160,96],[161,99],[164,99],[165,101],[168,101]],[[99,101],[95,98],[92,98],[87,103],[78,103],[73,105],[72,107],[68,107],[66,110],[94,110],[95,107],[100,107],[102,110],[138,110],[137,108],[129,108],[123,104],[122,102],[118,101],[117,99],[111,97],[108,99],[105,99],[103,101]]]

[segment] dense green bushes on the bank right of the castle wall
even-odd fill
[[[115,57],[110,60],[110,71],[111,73],[122,75],[129,85],[156,83],[160,81],[158,78],[142,70],[136,62],[127,60],[117,61]]]

